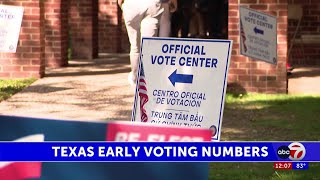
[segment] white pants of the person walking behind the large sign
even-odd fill
[[[141,37],[158,36],[163,7],[160,0],[125,0],[122,10],[130,41],[131,72],[128,80],[134,84],[138,75]]]

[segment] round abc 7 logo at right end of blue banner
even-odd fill
[[[277,154],[281,159],[289,158],[292,161],[300,161],[306,155],[306,148],[301,143],[294,142],[289,146],[280,146]]]

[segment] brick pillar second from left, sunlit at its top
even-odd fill
[[[65,66],[68,64],[69,1],[46,0],[44,5],[46,66]]]

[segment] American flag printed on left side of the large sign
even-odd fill
[[[144,76],[143,65],[141,64],[140,78],[139,78],[139,97],[140,97],[140,116],[141,122],[148,122],[148,115],[144,105],[149,101],[147,81]]]

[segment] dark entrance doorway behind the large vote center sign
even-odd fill
[[[228,38],[228,0],[178,0],[172,14],[171,36]]]

